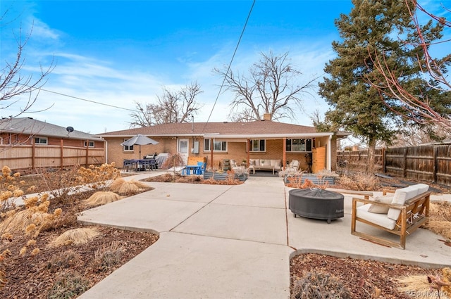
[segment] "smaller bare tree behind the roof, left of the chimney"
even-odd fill
[[[179,91],[171,91],[163,87],[163,94],[156,96],[157,103],[143,106],[136,103],[137,113],[132,113],[130,127],[149,127],[176,122],[189,122],[190,117],[197,114],[202,105],[196,97],[203,91],[197,82],[191,83]]]

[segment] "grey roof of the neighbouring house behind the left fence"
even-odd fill
[[[32,117],[3,118],[0,120],[0,132],[14,134],[28,134],[35,136],[48,136],[65,139],[99,140],[94,136],[80,131],[68,132],[65,127],[49,124],[35,120]]]

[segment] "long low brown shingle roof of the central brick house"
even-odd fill
[[[254,122],[183,122],[125,129],[122,131],[106,132],[98,136],[125,137],[143,134],[147,136],[204,136],[206,138],[282,138],[330,136],[332,132],[317,132],[314,127],[292,125],[271,120],[257,120]],[[338,137],[350,135],[348,132],[338,132]]]

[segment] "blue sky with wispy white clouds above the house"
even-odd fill
[[[252,1],[2,0],[0,5],[1,14],[8,10],[0,28],[2,68],[17,53],[20,26],[23,35],[32,28],[25,74],[55,58],[32,108],[39,112],[23,116],[91,134],[128,129],[135,101],[154,103],[163,86],[198,82],[203,108],[194,121],[205,122],[210,114],[212,122],[228,120],[232,95],[218,96],[223,78],[212,70],[230,62]],[[351,8],[350,0],[257,0],[232,69],[246,72],[261,51],[288,51],[304,74],[299,83],[322,77],[335,56],[331,43],[339,39],[334,20]],[[12,115],[23,101],[0,109],[0,116]],[[327,109],[319,96],[306,96],[304,110],[283,122],[311,125],[309,115]]]

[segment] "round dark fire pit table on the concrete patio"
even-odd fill
[[[295,217],[297,215],[327,220],[336,220],[345,216],[345,196],[340,193],[319,188],[290,190],[288,206]]]

